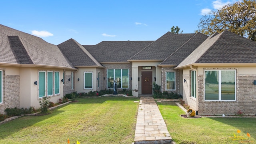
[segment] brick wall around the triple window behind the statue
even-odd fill
[[[102,79],[101,82],[103,82],[103,88],[107,88],[107,69],[129,69],[129,89],[132,89],[132,64],[103,64],[106,68],[103,70],[103,77],[105,77],[105,80]],[[118,88],[118,90],[122,90],[122,88]]]

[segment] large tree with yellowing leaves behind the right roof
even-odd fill
[[[228,30],[256,41],[256,1],[242,0],[202,16],[198,30],[206,35]]]

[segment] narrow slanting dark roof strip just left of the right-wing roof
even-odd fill
[[[192,53],[208,36],[198,32],[187,42],[185,42],[178,50],[172,53],[168,58],[166,58],[161,65],[178,65],[182,62],[190,53]]]

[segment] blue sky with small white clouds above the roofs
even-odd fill
[[[52,44],[70,38],[156,40],[172,26],[194,33],[202,14],[238,0],[1,0],[0,24]]]

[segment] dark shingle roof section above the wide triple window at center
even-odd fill
[[[140,50],[154,41],[103,41],[84,48],[99,62],[127,62]]]

